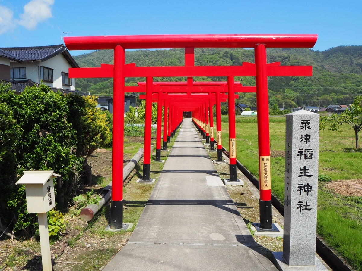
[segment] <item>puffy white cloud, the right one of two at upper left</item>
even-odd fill
[[[24,13],[20,15],[19,25],[26,29],[35,29],[39,22],[52,17],[51,7],[54,0],[31,0],[24,6]]]

